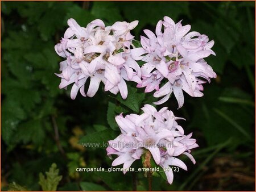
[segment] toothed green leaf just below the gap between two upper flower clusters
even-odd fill
[[[139,109],[141,107],[141,103],[145,98],[145,93],[142,92],[142,90],[137,89],[136,87],[132,87],[130,85],[127,85],[128,89],[128,96],[124,100],[120,94],[118,94],[116,97],[113,97],[117,99],[122,105],[125,105],[126,107],[130,108],[134,112],[139,112]]]

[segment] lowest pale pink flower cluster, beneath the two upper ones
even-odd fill
[[[171,184],[174,175],[169,166],[187,170],[187,166],[177,156],[184,154],[195,164],[190,152],[199,146],[195,139],[191,139],[192,133],[184,135],[183,128],[177,124],[176,120],[183,118],[175,117],[167,107],[157,111],[155,107],[145,105],[142,110],[142,115],[130,114],[123,117],[120,114],[115,117],[121,135],[109,141],[107,155],[118,156],[112,166],[123,164],[124,169],[129,169],[135,160],[149,151],[156,164],[164,169]]]

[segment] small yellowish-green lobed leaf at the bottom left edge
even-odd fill
[[[46,177],[43,173],[39,174],[39,185],[43,191],[56,191],[61,178],[62,176],[59,176],[57,165],[53,163],[51,168],[49,168],[49,172],[46,172]]]

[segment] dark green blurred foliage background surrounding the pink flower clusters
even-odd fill
[[[165,15],[214,39],[217,56],[207,61],[218,77],[205,85],[203,98],[185,94],[180,110],[174,97],[165,104],[187,119],[180,123],[200,148],[192,152],[196,165],[184,158],[188,172],[175,173],[172,185],[154,177],[153,190],[254,190],[254,2],[1,2],[1,8],[2,190],[12,182],[42,190],[39,173],[53,162],[62,176],[57,190],[132,190],[134,180],[137,190],[147,190],[143,173],[134,178],[75,169],[109,168],[112,160],[104,148],[82,148],[77,142],[113,139],[118,134],[114,115],[138,112],[153,98],[133,85],[125,102],[101,90],[94,98],[78,95],[72,101],[70,87],[59,90],[60,79],[53,74],[61,61],[53,46],[69,18],[81,26],[96,18],[106,25],[139,20],[133,31],[139,40],[143,29],[154,31]]]

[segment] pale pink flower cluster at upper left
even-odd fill
[[[84,97],[93,97],[103,82],[105,91],[120,92],[125,99],[128,94],[125,80],[141,84],[141,69],[130,52],[134,38],[130,30],[137,24],[138,21],[115,22],[105,27],[102,20],[96,19],[84,28],[69,19],[64,38],[55,45],[57,54],[66,59],[60,62],[62,73],[57,74],[61,78],[60,89],[75,83],[71,89],[72,99],[79,90]],[[90,84],[85,94],[88,78]]]

